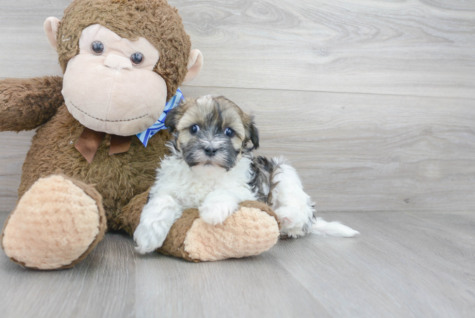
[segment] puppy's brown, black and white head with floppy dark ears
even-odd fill
[[[229,170],[243,153],[259,146],[253,117],[222,96],[186,100],[168,113],[165,125],[174,133],[175,149],[190,167],[213,164]],[[228,129],[231,136],[226,134]]]

